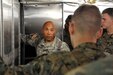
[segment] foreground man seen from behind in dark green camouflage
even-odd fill
[[[91,17],[91,18],[90,18]],[[69,33],[74,50],[37,57],[27,65],[17,67],[17,75],[64,75],[71,69],[105,57],[97,47],[101,15],[94,5],[82,5],[74,13]],[[1,62],[1,69],[3,62]],[[12,71],[12,70],[11,70]],[[0,71],[2,73],[2,70]],[[7,72],[4,71],[4,73]],[[7,72],[7,75],[11,73]]]

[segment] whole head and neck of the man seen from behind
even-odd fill
[[[101,36],[101,13],[95,5],[78,7],[69,25],[71,43],[75,48],[85,42],[96,43]]]

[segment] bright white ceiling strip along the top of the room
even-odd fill
[[[73,2],[73,3],[89,3],[89,4],[111,4],[113,0],[20,0],[21,3],[51,3],[51,2]]]

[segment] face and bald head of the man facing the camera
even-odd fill
[[[46,42],[54,40],[56,34],[55,26],[52,23],[47,23],[43,28],[43,36]]]

